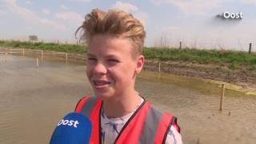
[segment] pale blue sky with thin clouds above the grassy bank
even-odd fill
[[[0,38],[76,42],[74,32],[94,8],[120,9],[138,18],[146,46],[256,51],[256,0],[0,0]],[[242,18],[217,18],[224,12]],[[255,45],[255,46],[254,46]]]

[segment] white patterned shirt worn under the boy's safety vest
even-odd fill
[[[134,114],[143,101],[144,99],[142,98],[142,101],[133,112],[121,118],[107,118],[104,110],[101,110],[102,144],[114,144],[115,139],[122,130],[122,126],[126,124],[128,119]],[[166,144],[182,144],[182,136],[174,126],[170,126],[170,131],[166,137]]]

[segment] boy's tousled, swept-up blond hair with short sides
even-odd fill
[[[122,10],[94,9],[86,14],[82,26],[76,30],[76,35],[82,30],[80,40],[90,44],[91,38],[96,34],[110,34],[114,37],[128,38],[132,42],[134,50],[132,55],[142,54],[146,32],[141,22]]]

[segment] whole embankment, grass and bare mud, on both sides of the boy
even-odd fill
[[[43,42],[0,41],[0,46],[2,51],[10,48],[62,51],[80,61],[86,61],[88,50],[87,46]],[[256,90],[255,52],[146,47],[143,54],[145,70],[213,79]]]

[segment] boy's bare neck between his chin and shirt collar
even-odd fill
[[[108,118],[121,118],[133,112],[140,102],[141,97],[134,90],[130,94],[122,94],[115,98],[104,99],[103,110]]]

